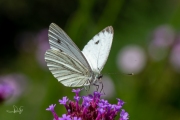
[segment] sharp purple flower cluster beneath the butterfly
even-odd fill
[[[114,120],[120,112],[119,120],[128,120],[129,115],[122,109],[124,102],[120,99],[117,104],[110,104],[107,100],[101,99],[101,93],[95,91],[93,95],[83,96],[82,103],[79,101],[80,89],[73,89],[76,95],[74,96],[75,101],[69,100],[67,97],[63,97],[59,100],[59,103],[64,105],[67,113],[63,114],[62,117],[58,117],[54,111],[56,105],[50,105],[46,110],[51,111],[54,120]]]

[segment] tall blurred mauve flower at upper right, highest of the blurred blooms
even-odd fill
[[[168,48],[173,44],[175,33],[168,25],[158,27],[149,43],[148,52],[155,61],[164,59],[168,54]]]

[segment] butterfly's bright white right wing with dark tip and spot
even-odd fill
[[[100,73],[103,69],[109,56],[113,34],[113,28],[106,27],[95,35],[82,50],[93,72]]]

